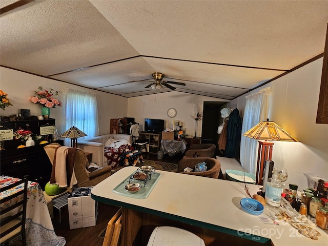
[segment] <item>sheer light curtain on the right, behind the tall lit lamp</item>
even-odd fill
[[[267,87],[258,93],[246,96],[241,133],[248,131],[260,121],[267,119],[271,91],[271,87]],[[241,135],[240,163],[247,172],[253,174],[256,174],[257,146],[258,140]]]

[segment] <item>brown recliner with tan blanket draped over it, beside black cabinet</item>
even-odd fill
[[[59,146],[59,144],[50,144],[44,147],[51,164],[55,157],[55,150]],[[74,160],[74,173],[77,180],[77,187],[95,186],[97,183],[109,177],[112,173],[112,168],[110,166],[89,172],[87,170],[88,164],[89,162],[86,152],[77,148]]]

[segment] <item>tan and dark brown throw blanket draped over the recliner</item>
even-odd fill
[[[72,188],[77,183],[74,174],[75,153],[76,148],[65,146],[56,148],[50,183],[56,183],[61,188]]]

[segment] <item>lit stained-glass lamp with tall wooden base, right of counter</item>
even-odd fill
[[[263,172],[266,160],[271,160],[272,158],[272,148],[273,142],[268,142],[268,140],[273,141],[292,141],[298,142],[291,134],[279,127],[275,122],[261,121],[255,127],[251,128],[244,134],[245,137],[250,137],[252,139],[264,140],[258,141],[258,155],[257,155],[257,167],[256,167],[256,184],[263,185]]]

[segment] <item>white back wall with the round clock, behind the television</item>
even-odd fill
[[[195,120],[190,115],[202,114],[204,101],[229,101],[208,96],[199,96],[182,92],[165,92],[154,95],[132,97],[128,100],[128,115],[139,123],[140,131],[144,131],[145,118],[164,119],[166,127],[173,129],[173,120],[178,120],[186,135],[195,135]],[[167,111],[177,110],[177,115],[170,118]],[[174,127],[176,129],[176,127]],[[197,124],[197,136],[201,136],[201,120]]]

